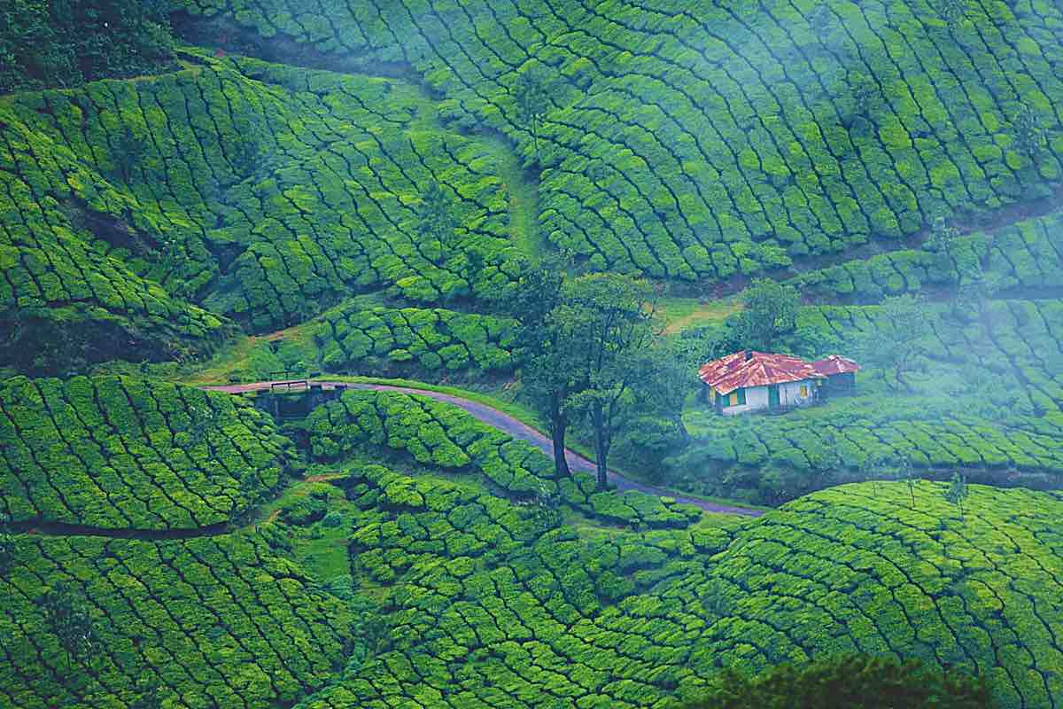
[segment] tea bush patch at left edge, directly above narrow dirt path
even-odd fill
[[[294,450],[235,396],[132,377],[0,383],[0,502],[16,522],[190,529],[282,483]]]

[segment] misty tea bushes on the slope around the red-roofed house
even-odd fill
[[[911,465],[947,479],[962,468],[993,484],[1059,486],[1063,473],[1063,303],[988,301],[977,315],[923,304],[929,331],[910,341],[905,381],[858,376],[855,395],[781,417],[687,412],[695,441],[664,480],[703,493],[779,502]],[[798,331],[817,354],[877,337],[880,306],[804,308]],[[901,338],[902,340],[902,338]],[[906,345],[907,348],[907,345]]]

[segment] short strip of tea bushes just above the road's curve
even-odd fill
[[[330,372],[508,371],[514,327],[494,316],[350,305],[325,314],[315,340]]]

